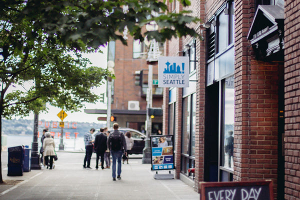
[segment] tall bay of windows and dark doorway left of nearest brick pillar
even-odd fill
[[[211,23],[207,38],[207,99],[218,98],[217,109],[205,113],[206,146],[217,147],[217,151],[205,154],[208,163],[205,170],[211,174],[208,180],[233,180],[234,146],[234,3],[226,1],[209,20]],[[213,26],[215,24],[215,26]],[[212,124],[217,120],[217,124]],[[209,138],[208,138],[209,137]],[[215,142],[217,139],[217,143]],[[209,147],[205,147],[205,151]],[[210,157],[209,157],[210,156]],[[217,167],[217,168],[216,168]],[[217,177],[215,177],[217,173]]]

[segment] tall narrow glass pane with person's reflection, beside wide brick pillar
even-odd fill
[[[225,79],[222,165],[233,168],[234,79]]]

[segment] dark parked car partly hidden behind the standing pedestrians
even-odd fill
[[[131,132],[131,137],[134,141],[133,143],[133,147],[131,149],[131,154],[141,154],[142,153],[142,149],[145,146],[145,138],[146,135],[139,132],[138,130],[132,129],[132,128],[125,128],[125,127],[119,127],[118,128],[119,131],[122,131],[124,134],[125,132],[129,131]],[[113,131],[112,128],[109,129],[109,131]]]

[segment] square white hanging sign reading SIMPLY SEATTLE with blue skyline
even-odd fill
[[[158,87],[188,87],[189,57],[158,57]]]

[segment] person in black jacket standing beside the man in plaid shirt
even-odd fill
[[[104,152],[107,149],[106,141],[107,136],[103,133],[103,131],[97,134],[95,137],[94,148],[96,151],[96,169],[98,169],[99,156],[101,156],[101,168],[104,168]]]

